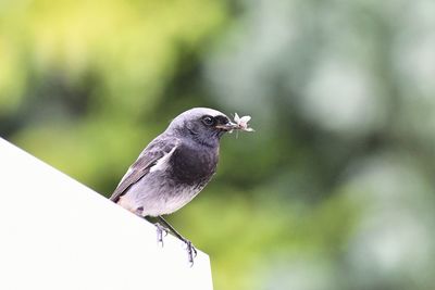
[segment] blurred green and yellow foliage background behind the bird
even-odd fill
[[[192,106],[216,290],[435,289],[435,1],[0,1],[0,135],[98,192]]]

